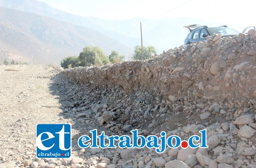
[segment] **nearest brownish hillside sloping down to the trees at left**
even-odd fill
[[[0,44],[33,63],[59,65],[61,58],[78,55],[88,45],[99,46],[107,55],[113,50],[132,53],[127,46],[90,28],[3,7],[0,15]],[[112,43],[115,45],[110,46]]]

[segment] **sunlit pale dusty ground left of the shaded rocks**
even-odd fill
[[[72,122],[59,115],[61,108],[42,107],[59,106],[49,88],[56,72],[43,65],[0,65],[0,163],[35,155],[36,124]]]

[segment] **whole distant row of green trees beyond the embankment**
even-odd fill
[[[156,49],[153,46],[147,48],[143,46],[143,60],[153,58],[156,55]],[[142,60],[141,47],[137,45],[134,48],[132,56],[134,60]],[[125,56],[120,56],[117,51],[112,51],[109,56],[105,56],[100,47],[86,46],[79,56],[67,56],[60,62],[62,68],[90,67],[97,65],[106,65],[108,63],[117,63],[124,61]]]

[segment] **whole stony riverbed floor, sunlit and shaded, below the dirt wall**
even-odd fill
[[[203,99],[171,103],[143,91],[114,85],[72,83],[61,68],[0,65],[0,168],[255,168],[256,111],[232,111]],[[84,74],[83,74],[84,75]],[[72,75],[71,75],[72,76]],[[169,96],[172,100],[172,97]],[[189,100],[190,101],[190,100]],[[187,108],[185,108],[186,106]],[[222,109],[223,107],[223,109]],[[205,108],[201,110],[202,108]],[[189,113],[191,111],[191,113]],[[243,112],[242,112],[243,111]],[[195,115],[194,115],[195,114]],[[213,118],[222,118],[214,120]],[[70,123],[72,157],[36,158],[36,124]],[[105,135],[178,135],[187,140],[207,130],[208,149],[81,149],[77,140],[93,129]],[[90,136],[90,135],[89,135]]]

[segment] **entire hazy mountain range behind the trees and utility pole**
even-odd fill
[[[183,26],[199,21],[213,25],[192,18],[104,20],[66,13],[37,0],[0,0],[0,49],[32,63],[59,65],[63,57],[79,55],[91,45],[107,56],[116,50],[128,60],[141,44],[140,22],[143,45],[155,46],[159,54],[182,45],[187,35]]]

